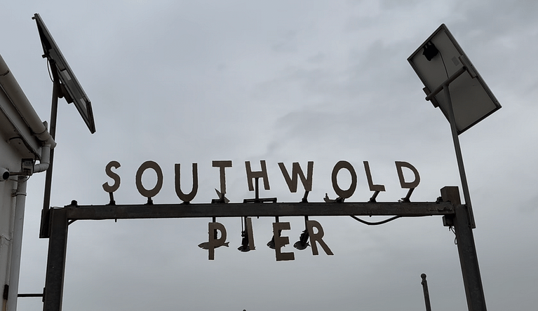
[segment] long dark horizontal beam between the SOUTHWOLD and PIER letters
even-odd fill
[[[450,202],[292,202],[166,205],[67,205],[67,219],[159,219],[241,216],[433,216],[455,213]]]

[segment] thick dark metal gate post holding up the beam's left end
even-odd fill
[[[61,311],[67,251],[67,209],[51,209],[43,311]]]

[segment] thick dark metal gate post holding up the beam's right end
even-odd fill
[[[455,205],[455,214],[452,217],[445,216],[454,226],[457,241],[457,251],[459,254],[459,264],[462,266],[463,284],[467,298],[467,308],[469,311],[486,311],[484,289],[480,268],[478,267],[478,256],[474,244],[473,229],[469,223],[469,211],[466,205],[460,204],[459,191],[457,187],[443,187],[441,189],[443,201],[450,201]]]

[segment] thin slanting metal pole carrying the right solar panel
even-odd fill
[[[448,82],[448,81],[447,81]],[[454,108],[452,107],[452,99],[450,99],[450,90],[448,85],[450,82],[443,84],[443,91],[445,92],[445,99],[448,105],[448,118],[450,120],[450,130],[452,130],[452,140],[454,141],[454,148],[456,151],[457,166],[459,169],[459,178],[462,181],[462,190],[465,199],[465,205],[469,212],[469,225],[471,228],[476,228],[473,216],[473,207],[471,205],[471,195],[469,193],[469,185],[467,184],[467,176],[465,174],[465,167],[463,163],[462,148],[459,146],[459,137],[456,129],[456,118],[454,116]]]

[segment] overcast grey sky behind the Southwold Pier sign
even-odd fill
[[[0,5],[0,53],[43,120],[52,83],[34,13],[40,13],[93,104],[90,134],[60,100],[51,205],[102,205],[117,160],[118,204],[144,204],[135,172],[163,169],[155,203],[179,203],[175,163],[198,163],[199,193],[219,187],[212,160],[232,160],[227,197],[253,198],[244,161],[267,161],[267,197],[296,202],[278,162],[314,161],[309,200],[334,198],[332,167],[354,165],[349,199],[367,201],[363,172],[385,184],[379,201],[405,196],[394,161],[417,167],[415,201],[459,186],[450,126],[424,100],[408,64],[445,23],[503,108],[460,136],[490,311],[538,305],[538,3],[536,1],[11,1]],[[185,171],[188,172],[188,171]],[[145,176],[145,175],[144,175]],[[187,174],[188,177],[188,174]],[[185,179],[186,184],[189,179]],[[147,181],[151,184],[152,181]],[[48,240],[40,240],[44,174],[29,180],[20,292],[40,292]],[[210,219],[76,221],[69,226],[63,310],[466,310],[455,235],[441,217],[369,227],[316,217],[335,254],[310,248],[276,262],[274,219],[253,219],[257,248],[237,251],[240,219],[219,219],[229,248],[215,261],[197,245]],[[373,220],[373,219],[372,219]],[[377,220],[377,219],[375,219]],[[290,242],[303,219],[290,221]],[[20,298],[19,310],[39,310]]]

